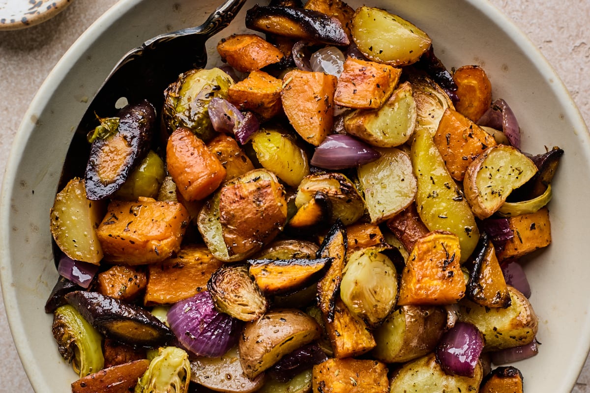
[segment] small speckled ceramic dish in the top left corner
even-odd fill
[[[0,0],[0,30],[31,27],[63,11],[72,0]]]

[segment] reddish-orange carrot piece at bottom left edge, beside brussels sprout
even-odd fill
[[[129,393],[148,367],[149,360],[141,359],[102,369],[73,382],[72,393]]]

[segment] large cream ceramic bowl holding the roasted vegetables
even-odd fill
[[[51,254],[49,210],[70,138],[112,65],[145,39],[197,25],[212,2],[123,0],[94,23],[42,85],[17,133],[1,199],[0,272],[11,331],[37,392],[66,392],[76,379],[57,352],[44,303],[57,280]],[[243,15],[218,37],[244,31]],[[353,7],[360,1],[350,0]],[[590,147],[578,110],[546,60],[512,22],[483,0],[372,0],[421,27],[450,67],[480,64],[494,97],[512,106],[523,149],[542,153],[560,146],[550,203],[553,243],[526,265],[530,298],[539,315],[540,353],[516,364],[526,391],[569,393],[590,346]],[[214,51],[209,51],[214,53]],[[37,119],[37,121],[34,121]]]

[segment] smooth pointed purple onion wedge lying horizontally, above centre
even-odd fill
[[[370,163],[381,154],[349,135],[333,134],[316,147],[310,164],[324,169],[345,169]]]

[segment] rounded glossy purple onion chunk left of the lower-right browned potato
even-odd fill
[[[457,322],[438,342],[438,361],[447,374],[473,377],[483,344],[483,335],[474,325]]]

